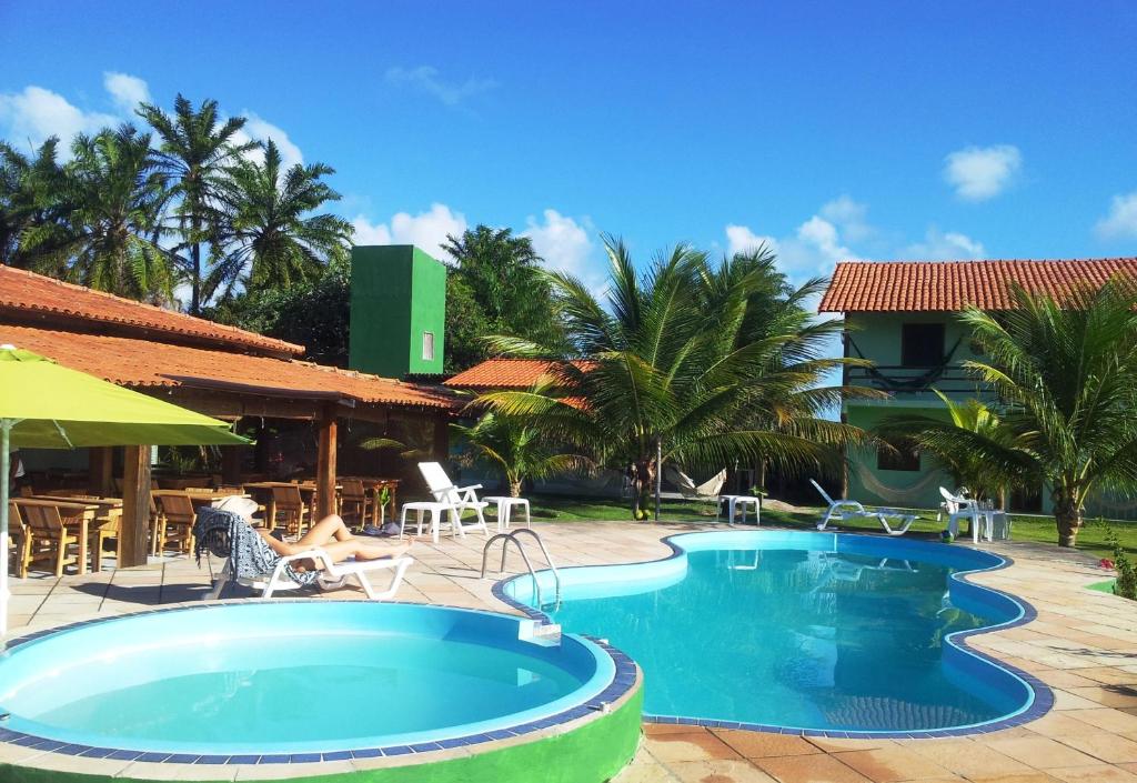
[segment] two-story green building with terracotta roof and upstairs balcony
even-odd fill
[[[1137,275],[1137,258],[1081,261],[843,262],[819,305],[845,318],[845,355],[871,360],[871,368],[847,368],[845,382],[887,391],[888,399],[849,399],[841,411],[850,425],[872,429],[905,409],[946,415],[932,389],[953,399],[994,395],[962,368],[981,358],[957,313],[968,305],[987,311],[1012,306],[1010,286],[1057,297],[1071,287],[1101,285],[1118,273]],[[939,487],[952,479],[918,451],[853,450],[847,496],[865,503],[933,508]],[[1021,511],[1048,511],[1038,487],[1010,498]],[[1132,517],[1137,508],[1097,498],[1093,513]]]

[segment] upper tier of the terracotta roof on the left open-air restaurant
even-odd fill
[[[140,337],[144,332],[157,332],[231,351],[254,349],[284,356],[304,354],[301,345],[2,265],[0,310],[40,316],[45,325],[52,325],[52,316],[60,316],[83,322],[88,328],[114,324],[124,332],[138,332]]]

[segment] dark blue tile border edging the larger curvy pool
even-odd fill
[[[773,527],[771,527],[771,528],[766,528],[766,529],[771,530],[771,531],[774,531],[774,533],[780,533],[780,534],[785,534],[785,533],[800,533],[800,534],[804,534],[804,535],[812,535],[812,534],[815,533],[814,530],[797,530],[797,529],[794,529],[794,528],[773,528]],[[758,528],[755,528],[752,531],[753,533],[762,533],[763,530],[761,530]],[[720,534],[720,533],[724,534],[724,535],[733,535],[733,534],[738,533],[738,530],[737,529],[736,530],[688,530],[688,531],[683,531],[683,533],[673,534],[673,535],[665,536],[665,537],[663,537],[663,538],[659,539],[661,543],[665,544],[669,549],[671,549],[671,554],[669,554],[666,557],[658,558],[656,560],[638,561],[637,563],[607,563],[606,566],[616,566],[616,567],[619,567],[619,566],[640,564],[640,563],[649,563],[649,562],[666,562],[669,560],[674,560],[675,558],[682,557],[684,554],[684,550],[679,544],[677,544],[674,541],[672,541],[672,538],[674,538],[677,536],[691,535],[691,534],[716,535],[716,534]],[[875,534],[865,534],[865,533],[838,533],[838,531],[835,531],[835,530],[824,530],[824,531],[821,531],[821,533],[828,533],[829,535],[832,535],[835,537],[839,536],[839,537],[844,537],[844,538],[871,538],[873,541],[879,541],[879,542],[882,542],[882,543],[897,541],[896,538],[890,537],[890,536],[875,535]],[[973,550],[973,549],[971,549],[969,546],[964,546],[964,545],[961,545],[961,544],[940,544],[938,542],[932,542],[932,541],[910,539],[910,542],[915,542],[915,541],[919,541],[920,543],[927,544],[929,546],[962,546],[962,547],[968,549],[970,551],[981,551],[981,550]],[[749,731],[749,732],[767,732],[767,733],[773,733],[773,734],[792,734],[792,735],[797,735],[797,736],[821,736],[821,737],[827,737],[827,739],[841,739],[841,740],[845,740],[845,739],[864,739],[864,740],[913,739],[913,740],[919,740],[919,739],[946,739],[946,737],[953,737],[953,736],[969,736],[969,735],[974,735],[974,734],[989,734],[991,732],[1002,731],[1004,728],[1013,728],[1015,726],[1021,726],[1021,725],[1023,725],[1026,723],[1030,723],[1031,720],[1037,720],[1038,718],[1040,718],[1044,715],[1046,715],[1047,712],[1049,712],[1051,709],[1054,707],[1054,692],[1049,689],[1049,686],[1046,685],[1046,683],[1044,683],[1043,681],[1040,681],[1038,677],[1036,677],[1032,674],[1030,674],[1029,671],[1024,671],[1024,670],[1022,670],[1022,669],[1020,669],[1020,668],[1018,668],[1015,666],[1012,666],[1010,664],[1001,661],[997,658],[995,658],[993,656],[989,656],[989,654],[982,652],[981,650],[977,650],[974,646],[972,646],[971,644],[969,644],[969,640],[971,637],[973,637],[973,636],[979,636],[981,634],[988,634],[988,633],[993,633],[993,632],[996,632],[996,630],[1007,630],[1010,628],[1016,628],[1019,626],[1027,625],[1028,623],[1034,621],[1038,617],[1037,610],[1030,604],[1030,602],[1026,601],[1024,599],[1021,599],[1021,597],[1019,597],[1016,595],[1012,595],[1011,593],[997,590],[995,587],[989,587],[987,585],[980,585],[980,584],[973,583],[969,578],[966,578],[966,577],[971,576],[972,574],[987,574],[987,572],[991,572],[991,571],[999,571],[999,570],[1003,570],[1005,568],[1010,568],[1011,566],[1014,564],[1014,559],[1011,558],[1011,557],[1007,557],[1007,555],[1004,555],[1004,554],[995,554],[994,552],[985,552],[985,554],[988,554],[988,555],[990,555],[993,558],[998,559],[999,562],[996,563],[996,564],[994,564],[994,566],[986,567],[986,568],[974,568],[974,569],[969,569],[969,570],[955,571],[955,572],[953,572],[949,578],[952,580],[954,580],[954,582],[960,583],[961,585],[968,585],[971,588],[974,588],[974,590],[978,590],[978,591],[985,591],[987,593],[991,593],[994,595],[997,595],[997,596],[1001,596],[1001,597],[1004,597],[1004,599],[1011,601],[1016,607],[1019,607],[1020,615],[1019,615],[1019,617],[1016,617],[1016,618],[1014,618],[1012,620],[1007,620],[1005,623],[989,625],[989,626],[985,626],[982,628],[974,628],[972,630],[957,630],[954,634],[949,634],[948,636],[946,636],[944,641],[945,641],[945,643],[947,645],[949,645],[952,648],[955,648],[961,653],[963,653],[965,656],[970,656],[972,658],[976,658],[976,659],[982,661],[984,665],[995,667],[996,669],[1002,669],[1003,671],[1006,671],[1006,673],[1013,675],[1014,677],[1018,677],[1023,683],[1026,683],[1027,687],[1031,692],[1032,699],[1031,699],[1030,704],[1024,710],[1022,710],[1021,712],[1016,712],[1015,715],[1011,715],[1011,716],[1007,716],[1005,718],[998,718],[998,719],[995,719],[995,720],[991,720],[991,722],[988,722],[988,723],[976,724],[976,725],[972,725],[972,726],[961,726],[961,727],[955,727],[955,728],[936,728],[936,730],[907,730],[907,731],[891,731],[891,732],[887,732],[887,731],[864,731],[864,732],[862,732],[862,731],[855,731],[855,730],[853,730],[853,731],[850,731],[850,730],[845,730],[845,731],[824,731],[824,730],[810,730],[810,728],[794,728],[794,727],[789,727],[789,726],[777,726],[777,725],[766,725],[766,724],[741,723],[741,722],[733,722],[733,720],[717,720],[717,719],[712,719],[712,718],[692,718],[692,717],[684,717],[684,716],[653,715],[650,712],[645,712],[644,714],[644,722],[645,723],[659,723],[659,724],[682,724],[682,725],[690,725],[690,726],[702,726],[702,727],[705,727],[705,728],[738,728],[738,730],[741,730],[741,731]],[[912,559],[913,560],[919,560],[919,558],[912,558]],[[599,567],[604,568],[606,566],[599,566]],[[561,568],[558,570],[561,570],[561,571],[568,571],[568,570],[573,570],[573,569],[578,569],[578,568],[597,568],[597,566],[568,566],[568,567],[565,567],[565,568]],[[548,615],[546,615],[545,612],[540,611],[539,609],[534,609],[533,607],[530,607],[528,604],[521,603],[520,601],[516,601],[515,599],[513,599],[511,595],[508,595],[505,592],[506,585],[509,584],[511,582],[514,582],[516,579],[526,579],[526,578],[530,578],[528,574],[521,574],[521,575],[507,577],[505,579],[500,579],[500,580],[496,582],[493,584],[493,587],[492,587],[493,596],[496,599],[498,599],[499,601],[501,601],[503,603],[505,603],[506,605],[508,605],[508,607],[511,607],[513,609],[516,609],[517,611],[521,611],[522,613],[524,613],[526,617],[529,617],[532,620],[537,620],[538,623],[541,623],[541,624],[551,624],[553,619]],[[624,653],[620,653],[620,654],[623,656]]]

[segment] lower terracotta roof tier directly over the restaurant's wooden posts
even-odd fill
[[[186,379],[204,379],[272,389],[285,396],[317,391],[360,403],[451,410],[462,406],[456,394],[442,387],[404,384],[291,358],[11,324],[0,324],[3,343],[122,386],[179,387],[189,385]]]

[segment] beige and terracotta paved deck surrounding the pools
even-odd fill
[[[533,527],[558,566],[654,560],[670,554],[665,536],[722,529],[645,522]],[[483,544],[480,535],[437,545],[421,541],[399,600],[511,611],[493,596],[495,579],[479,578]],[[1044,717],[944,740],[832,740],[647,724],[639,753],[615,783],[1137,783],[1137,602],[1085,590],[1103,572],[1078,552],[1018,542],[982,549],[1014,564],[972,579],[1021,596],[1038,616],[970,643],[1049,685],[1055,704]],[[521,567],[511,554],[509,572]],[[186,558],[59,579],[36,574],[13,582],[11,635],[198,601],[208,585],[205,561],[198,568]],[[355,588],[327,595],[363,599]]]

